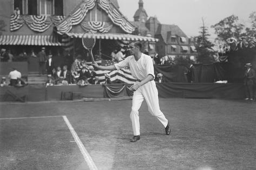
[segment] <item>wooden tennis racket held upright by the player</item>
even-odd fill
[[[93,58],[93,47],[95,45],[95,42],[96,42],[96,38],[93,31],[87,31],[83,33],[83,36],[82,36],[83,47],[84,49],[89,51],[92,63],[95,63]]]

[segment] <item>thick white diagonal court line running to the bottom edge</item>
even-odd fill
[[[80,138],[77,136],[77,134],[76,134],[74,128],[72,127],[72,125],[70,124],[68,118],[67,118],[65,115],[63,115],[62,117],[63,117],[65,123],[67,124],[67,126],[68,126],[68,128],[69,128],[71,134],[73,135],[73,137],[74,137],[74,139],[75,139],[75,141],[76,141],[76,144],[78,145],[78,147],[79,147],[81,153],[83,154],[83,158],[84,158],[84,160],[86,160],[86,162],[87,162],[89,168],[90,168],[91,170],[97,170],[98,168],[97,168],[96,165],[94,164],[93,159],[91,159],[89,153],[87,152],[87,150],[86,150],[86,148],[84,147],[83,143],[81,142]]]

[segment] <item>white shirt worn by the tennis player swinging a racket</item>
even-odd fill
[[[121,62],[115,64],[117,70],[122,69],[123,67],[130,67],[130,72],[133,77],[139,80],[145,79],[148,74],[151,74],[155,78],[154,66],[152,58],[148,55],[141,53],[139,60],[135,60],[134,56],[129,56]]]

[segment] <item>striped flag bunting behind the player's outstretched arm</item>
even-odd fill
[[[116,62],[113,62],[112,60],[101,61],[102,66],[114,65],[115,63]],[[132,73],[130,73],[130,70],[128,67],[118,71],[117,70],[114,70],[114,71],[97,70],[95,72],[96,72],[96,76],[99,77],[100,84],[106,83],[106,76],[110,77],[110,81],[112,82],[120,80],[123,83],[133,84],[136,81],[136,79],[132,76]]]

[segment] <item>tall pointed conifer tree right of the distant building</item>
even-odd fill
[[[204,19],[202,18],[202,26],[200,27],[200,35],[195,37],[195,47],[198,51],[197,62],[202,64],[208,64],[214,62],[214,51],[212,47],[214,46],[208,40],[210,34],[208,33],[208,28],[205,26]]]

